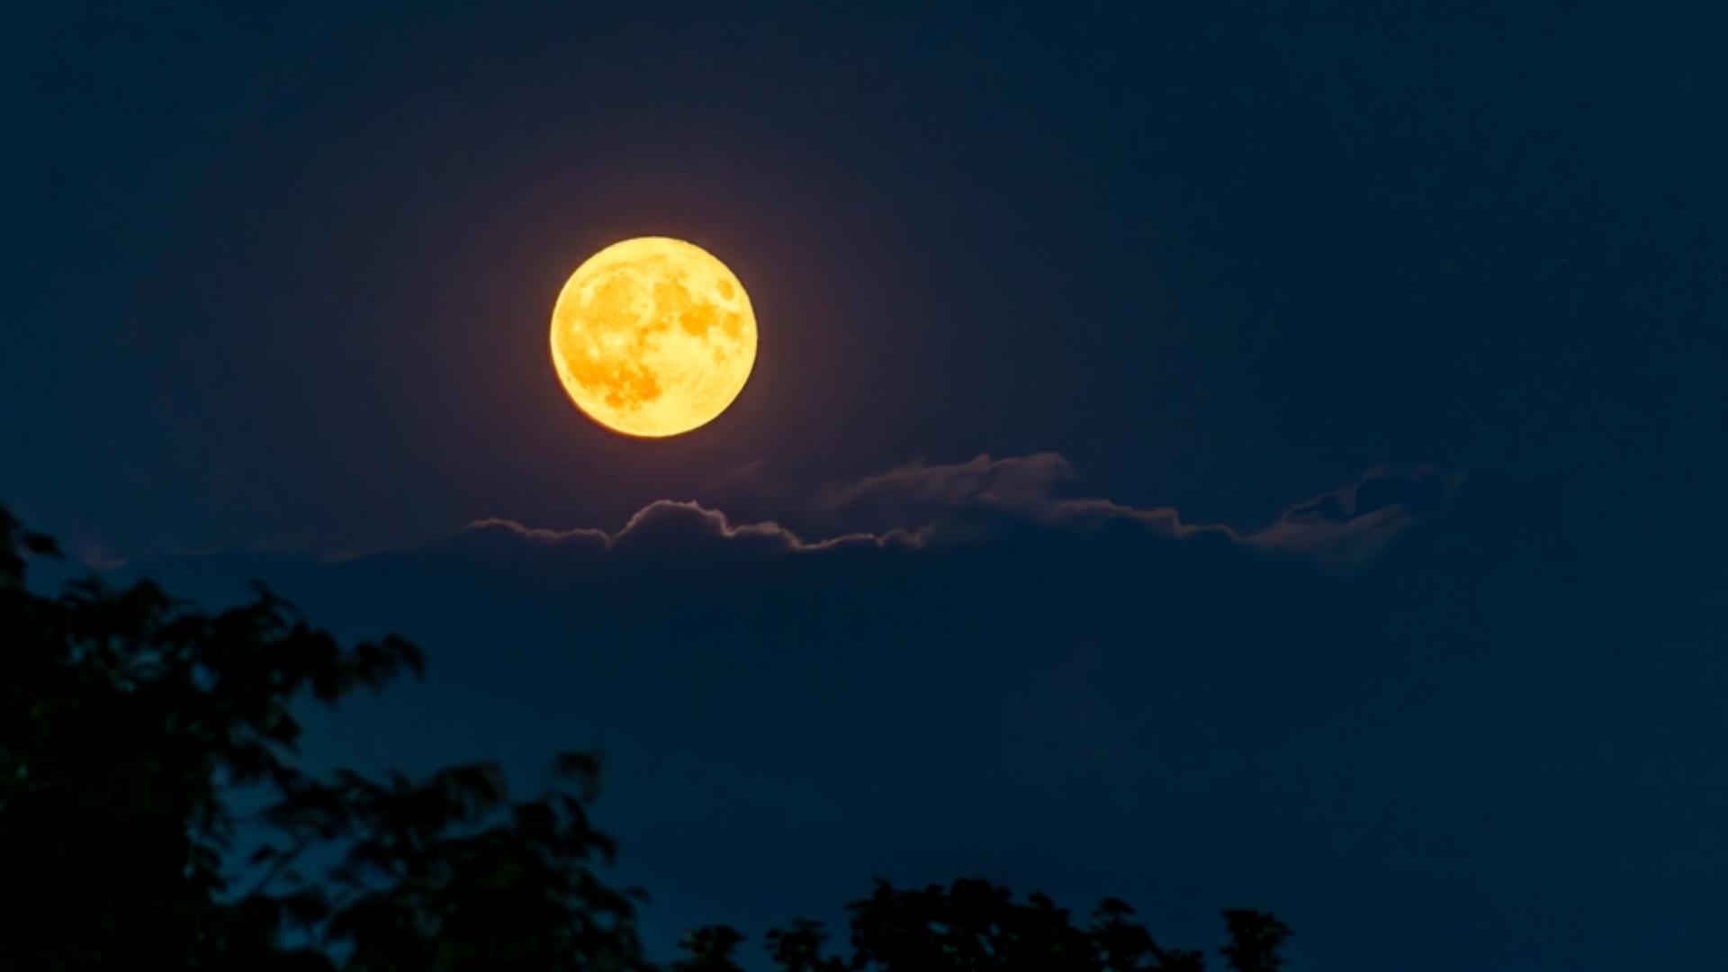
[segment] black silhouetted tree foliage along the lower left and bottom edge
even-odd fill
[[[491,763],[314,777],[294,764],[294,707],[420,675],[415,645],[342,647],[263,586],[218,612],[150,581],[35,593],[29,557],[55,555],[0,508],[0,969],[651,969],[643,894],[594,872],[615,849],[588,816],[594,756],[558,756],[527,801]],[[1132,915],[1106,899],[1075,924],[987,880],[878,882],[848,906],[850,953],[795,920],[767,932],[766,958],[781,972],[1204,969]],[[1282,967],[1282,922],[1236,910],[1225,924],[1230,969]],[[743,941],[698,929],[672,970],[741,972]]]

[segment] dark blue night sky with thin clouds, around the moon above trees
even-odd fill
[[[966,873],[1719,951],[1728,9],[351,7],[0,26],[0,502],[418,640],[311,759],[603,749],[657,948]],[[548,360],[638,235],[760,327],[676,439]]]

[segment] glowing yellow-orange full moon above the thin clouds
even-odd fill
[[[594,422],[626,436],[677,436],[743,391],[755,313],[708,251],[667,237],[624,240],[565,282],[551,311],[551,360]]]

